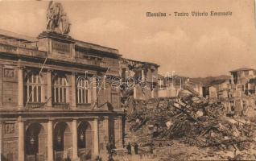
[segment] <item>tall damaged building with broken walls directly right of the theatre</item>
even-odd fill
[[[137,100],[158,97],[158,64],[120,59],[122,97],[133,96]]]

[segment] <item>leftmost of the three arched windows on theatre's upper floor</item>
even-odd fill
[[[25,76],[25,99],[28,103],[42,102],[42,80],[37,72],[28,72]]]

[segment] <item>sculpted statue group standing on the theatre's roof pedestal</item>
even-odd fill
[[[49,2],[47,8],[47,31],[68,35],[70,23],[60,2]]]

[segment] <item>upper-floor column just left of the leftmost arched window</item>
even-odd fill
[[[23,67],[18,67],[18,109],[22,110],[23,105]]]

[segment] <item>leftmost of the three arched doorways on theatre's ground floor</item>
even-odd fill
[[[32,123],[28,126],[25,134],[25,142],[27,161],[40,161],[45,159],[46,137],[42,125]]]

